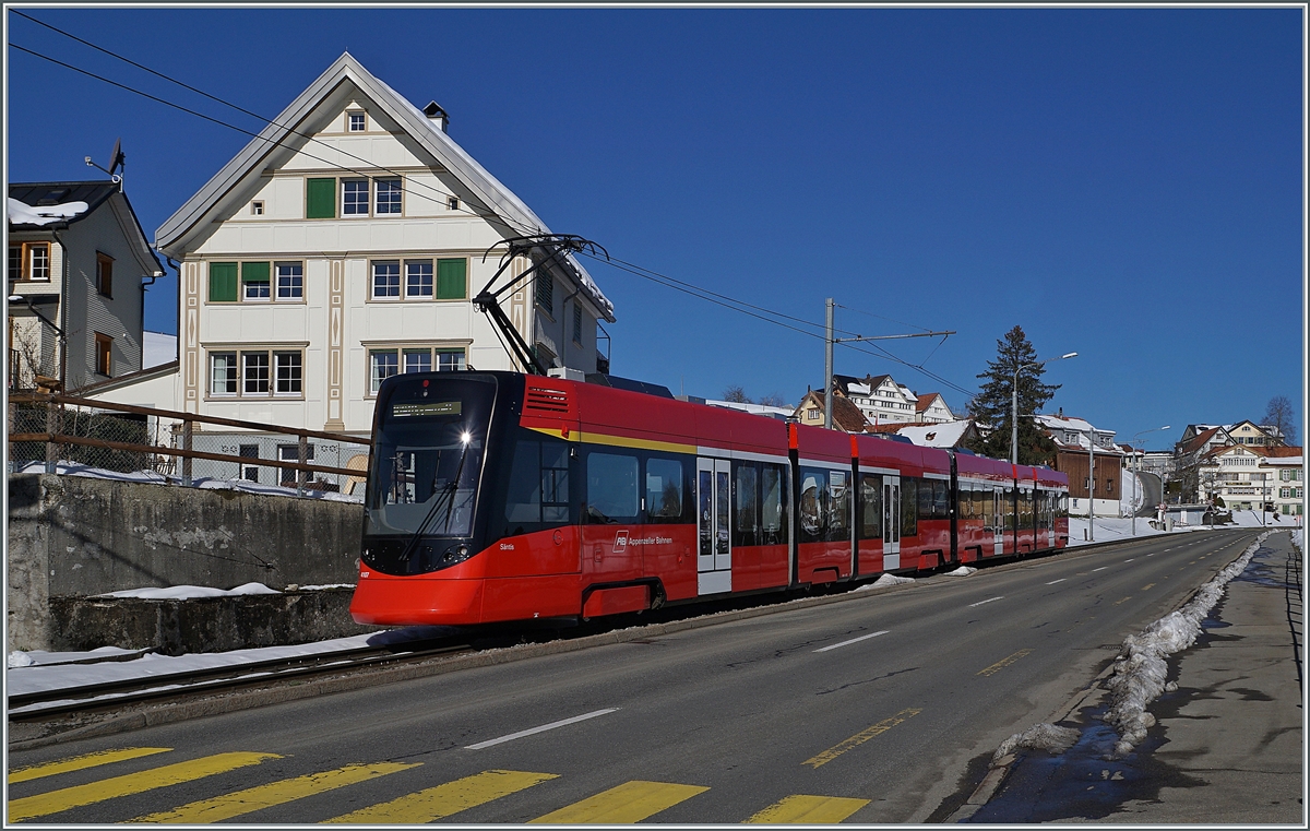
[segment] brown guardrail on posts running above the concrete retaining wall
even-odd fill
[[[152,426],[148,421],[123,418],[119,414],[144,416],[147,419],[156,419],[156,423]],[[358,444],[362,451],[372,447],[372,440],[367,436],[114,404],[59,393],[13,393],[9,396],[8,417],[10,471],[20,469],[33,461],[45,461],[46,472],[54,473],[56,465],[63,461],[119,473],[153,472],[176,476],[182,485],[195,482],[194,461],[207,460],[236,465],[236,476],[214,476],[211,478],[242,480],[249,478],[250,471],[258,476],[259,469],[274,468],[295,472],[295,488],[300,494],[304,494],[307,489],[339,490],[341,478],[362,481],[365,471],[358,467],[312,463],[309,439],[337,444]],[[233,427],[234,430],[196,430],[196,425]],[[241,436],[254,439],[255,434],[263,434],[262,438],[288,436],[288,439],[293,439],[295,460],[263,456],[261,444],[269,442],[246,446],[255,448],[254,455],[216,452],[212,448],[198,450],[195,447],[199,438],[203,443],[210,444],[236,442],[237,447],[244,450]],[[272,439],[272,443],[276,447],[290,447],[290,444],[276,444],[276,438]],[[221,447],[220,444],[220,451]],[[308,474],[312,473],[334,476],[338,481],[335,484],[326,480],[310,481]],[[290,486],[288,481],[278,484]]]

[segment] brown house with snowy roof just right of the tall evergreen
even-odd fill
[[[1095,510],[1096,516],[1119,516],[1125,454],[1115,444],[1115,431],[1062,412],[1034,419],[1056,444],[1055,469],[1069,477],[1069,512],[1086,516]]]

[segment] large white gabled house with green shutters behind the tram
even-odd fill
[[[549,229],[447,126],[343,54],[159,228],[181,262],[178,363],[101,395],[367,434],[390,375],[523,370],[472,299],[507,240]],[[546,367],[608,372],[613,304],[572,254],[503,307]]]

